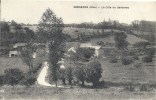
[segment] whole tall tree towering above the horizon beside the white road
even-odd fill
[[[61,60],[64,53],[63,41],[65,39],[62,30],[62,19],[58,18],[50,8],[46,9],[38,26],[39,41],[47,44],[51,79],[55,82],[56,87],[59,73],[58,61]]]

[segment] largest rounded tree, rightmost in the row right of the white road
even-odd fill
[[[87,64],[86,67],[86,81],[92,82],[93,87],[96,87],[99,83],[99,79],[101,78],[102,67],[99,61],[94,60]]]

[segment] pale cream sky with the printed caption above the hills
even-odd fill
[[[99,8],[74,8],[94,6]],[[105,7],[105,8],[102,8]],[[116,7],[110,9],[109,7]],[[117,9],[128,7],[129,9]],[[63,22],[98,23],[108,19],[130,24],[133,20],[156,21],[156,1],[50,1],[50,0],[2,0],[1,20],[37,24],[43,12],[50,8]]]

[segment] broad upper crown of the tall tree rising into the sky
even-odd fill
[[[50,9],[46,9],[43,13],[38,26],[38,39],[41,42],[53,41],[53,39],[62,38],[63,30],[62,18],[58,18],[55,13]],[[55,38],[53,38],[55,37]],[[59,39],[59,40],[60,40]],[[55,40],[54,40],[55,41]]]

